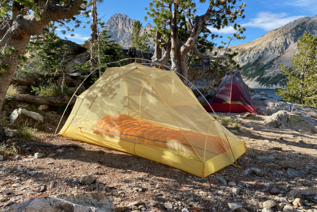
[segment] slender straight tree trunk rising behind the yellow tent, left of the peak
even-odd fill
[[[97,1],[92,0],[91,1],[91,34],[90,34],[90,65],[91,70],[96,67],[98,59],[96,58],[96,42],[98,40],[98,14],[97,14]]]

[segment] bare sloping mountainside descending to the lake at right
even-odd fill
[[[286,79],[278,67],[281,64],[292,67],[292,58],[298,52],[298,38],[306,32],[317,35],[317,16],[299,18],[254,41],[232,46],[232,50],[239,52],[236,61],[242,66],[242,75],[249,86],[285,87]]]

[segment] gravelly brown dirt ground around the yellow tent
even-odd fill
[[[1,204],[61,193],[105,191],[113,198],[116,211],[165,211],[169,203],[175,211],[184,208],[189,211],[231,211],[228,202],[240,203],[248,211],[261,211],[262,202],[266,200],[280,203],[280,198],[287,191],[317,184],[316,134],[263,126],[265,116],[260,115],[251,120],[237,114],[218,115],[229,116],[240,124],[239,130],[230,126],[228,129],[246,143],[247,152],[237,160],[241,168],[231,165],[204,179],[135,155],[63,136],[54,137],[52,133],[56,125],[48,123],[50,130],[34,133],[31,138],[33,142],[54,145],[73,143],[78,147],[53,149],[22,146],[19,156],[4,155],[0,163],[0,187],[12,190],[12,196],[3,198],[1,196],[4,194],[0,193]],[[47,112],[45,117],[58,120],[61,116]],[[18,140],[17,143],[28,141]],[[29,148],[27,152],[26,148]],[[38,152],[45,155],[36,159],[34,154]],[[274,161],[257,160],[257,155],[272,156]],[[297,170],[303,171],[303,176],[289,176],[281,167],[282,161],[290,161]],[[17,171],[18,165],[23,170],[22,174]],[[261,169],[263,176],[248,171],[249,168]],[[30,176],[26,174],[27,169],[38,173]],[[94,183],[82,185],[70,181],[87,174],[94,176]],[[222,184],[219,177],[227,182],[233,181],[236,188]],[[45,185],[47,190],[36,192],[35,188],[41,185]],[[278,191],[274,191],[275,186]],[[281,191],[283,189],[284,192]],[[301,206],[297,205],[296,208],[317,211],[315,199],[302,199]],[[288,200],[292,201],[291,198]],[[124,208],[134,201],[141,202]],[[276,207],[272,209],[277,211]]]

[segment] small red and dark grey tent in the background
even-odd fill
[[[243,82],[240,72],[225,75],[209,102],[215,112],[221,113],[256,113],[248,86]],[[212,111],[207,104],[205,109]]]

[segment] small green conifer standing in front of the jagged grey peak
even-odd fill
[[[149,38],[147,32],[144,30],[143,34],[141,35],[141,26],[142,23],[140,21],[134,21],[132,23],[132,34],[130,45],[135,47],[136,50],[150,52],[149,46]]]

